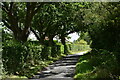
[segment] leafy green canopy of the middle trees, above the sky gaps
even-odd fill
[[[35,15],[31,31],[40,43],[43,43],[46,36],[50,39],[50,43],[55,36],[64,39],[71,33],[79,32],[83,28],[78,24],[82,24],[82,14],[77,15],[81,7],[85,5],[82,3],[46,3]],[[61,42],[64,45],[64,40]]]

